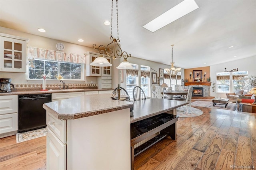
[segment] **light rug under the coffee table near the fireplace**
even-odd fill
[[[236,110],[236,104],[228,102],[228,106],[225,108],[225,105],[212,105],[212,101],[194,101],[191,103],[192,106],[199,106],[199,107],[208,107],[212,109],[225,109],[230,111]]]

